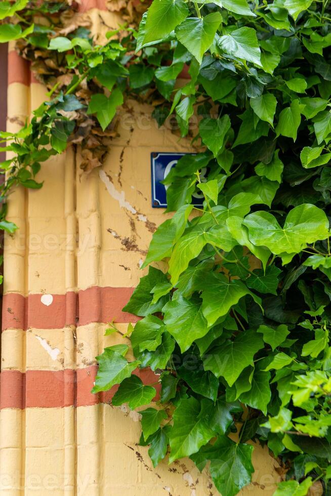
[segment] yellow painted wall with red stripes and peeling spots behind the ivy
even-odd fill
[[[8,129],[16,130],[45,89],[11,60],[18,66]],[[208,473],[188,460],[153,469],[147,448],[137,445],[138,414],[112,407],[113,392],[90,393],[95,356],[120,339],[104,337],[107,322],[126,330],[136,321],[121,308],[144,274],[152,232],[169,217],[151,207],[150,153],[193,150],[157,129],[151,112],[126,102],[101,170],[84,173],[79,149],[69,147],[43,165],[42,189],[18,189],[9,199],[8,217],[19,229],[5,241],[0,494],[217,494]],[[254,466],[254,482],[241,494],[271,495],[279,475],[267,448],[255,447]]]

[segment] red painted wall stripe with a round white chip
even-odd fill
[[[65,325],[85,325],[91,322],[137,322],[139,317],[122,312],[133,287],[90,287],[66,295],[52,295],[53,302],[46,306],[42,295],[24,297],[7,293],[3,299],[2,329],[61,329]]]

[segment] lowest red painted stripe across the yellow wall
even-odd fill
[[[118,389],[92,394],[97,365],[77,370],[3,370],[0,374],[0,408],[63,408],[89,406],[111,401]],[[135,370],[144,384],[154,384],[157,376],[150,369]],[[159,385],[155,400],[159,399]]]

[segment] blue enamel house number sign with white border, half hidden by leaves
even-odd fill
[[[167,207],[167,188],[161,184],[171,169],[175,167],[178,160],[183,155],[191,155],[191,153],[165,153],[165,152],[152,152],[151,153],[151,167],[152,167],[152,207],[154,209]],[[203,171],[201,171],[203,174]],[[194,193],[192,203],[200,206],[203,203],[202,193]]]

